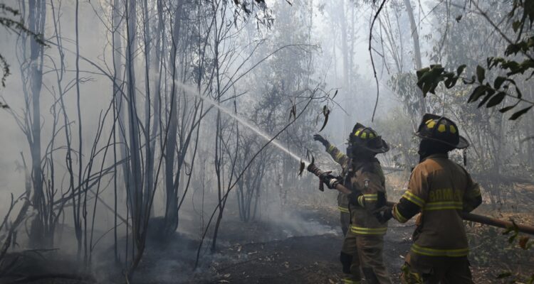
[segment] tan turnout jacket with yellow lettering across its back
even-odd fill
[[[403,214],[399,209],[401,202],[419,207],[421,214],[417,219],[412,253],[466,256],[468,242],[459,212],[474,209],[478,206],[477,199],[480,200],[480,189],[461,165],[445,154],[430,155],[412,171],[408,190],[393,207],[393,217],[406,222],[413,216],[407,212]]]

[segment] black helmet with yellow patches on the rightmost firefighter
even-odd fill
[[[415,135],[458,149],[469,146],[466,138],[460,136],[458,126],[456,126],[454,121],[444,116],[437,116],[436,114],[425,114]]]

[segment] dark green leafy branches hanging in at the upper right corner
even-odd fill
[[[482,15],[491,22],[485,13]],[[498,107],[506,102],[507,97],[510,97],[513,103],[502,107],[499,111],[506,113],[514,109],[515,111],[510,116],[511,120],[518,119],[532,109],[534,102],[523,98],[515,79],[518,75],[525,75],[528,76],[525,80],[529,80],[534,75],[532,56],[534,54],[534,35],[532,34],[534,1],[513,1],[507,17],[512,22],[513,32],[517,38],[515,41],[510,40],[503,31],[494,26],[508,42],[503,52],[504,57],[486,58],[486,67],[477,65],[476,72],[471,77],[461,77],[466,69],[465,64],[457,67],[456,72],[446,71],[441,65],[422,68],[417,71],[417,86],[422,90],[423,96],[426,97],[429,92],[435,94],[440,82],[443,82],[447,89],[451,89],[461,79],[464,84],[473,85],[468,103],[478,102],[478,107],[492,108]],[[488,76],[488,71],[493,69],[503,74],[492,80],[491,76]]]

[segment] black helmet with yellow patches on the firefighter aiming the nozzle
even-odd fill
[[[349,136],[349,147],[360,147],[372,153],[386,153],[389,145],[379,136],[377,131],[357,123]]]

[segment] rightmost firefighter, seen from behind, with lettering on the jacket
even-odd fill
[[[417,213],[414,244],[402,267],[403,283],[473,283],[468,243],[459,212],[471,212],[482,202],[480,188],[467,171],[448,158],[449,151],[468,142],[450,119],[425,114],[416,133],[419,165],[408,189],[393,207],[377,211],[382,221],[407,222]]]

